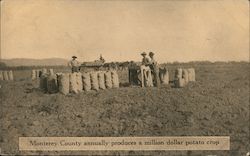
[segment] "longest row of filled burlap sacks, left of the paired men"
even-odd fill
[[[119,88],[116,71],[42,74],[40,89],[48,93],[79,93],[82,91]]]

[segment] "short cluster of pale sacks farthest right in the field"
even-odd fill
[[[175,87],[181,88],[184,87],[188,82],[195,81],[195,70],[194,68],[182,69],[178,68],[175,70]]]

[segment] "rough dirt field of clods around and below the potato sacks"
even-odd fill
[[[249,143],[249,64],[195,65],[196,82],[182,89],[128,87],[78,95],[44,94],[30,71],[0,81],[0,147],[18,151],[20,136],[230,136],[231,151],[53,152],[106,155],[246,155]],[[170,76],[173,69],[170,66]],[[37,152],[35,154],[46,154]],[[48,154],[48,153],[47,153]],[[50,153],[51,154],[51,153]]]

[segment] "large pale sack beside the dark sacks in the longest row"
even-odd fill
[[[69,74],[57,73],[56,75],[57,75],[59,92],[64,95],[69,94]]]

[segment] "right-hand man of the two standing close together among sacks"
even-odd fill
[[[154,58],[154,53],[153,52],[149,52],[149,57],[151,59],[149,67],[152,70],[153,75],[154,75],[154,85],[156,87],[159,87],[160,86],[159,66],[158,66],[158,63],[156,62],[156,60]]]

